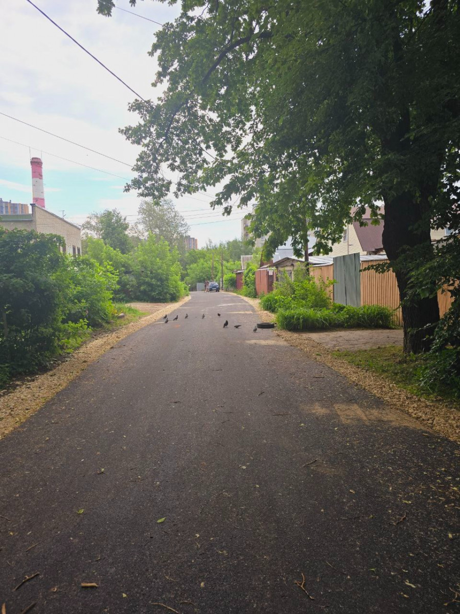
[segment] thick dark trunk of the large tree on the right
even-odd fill
[[[385,225],[382,243],[399,287],[402,303],[405,354],[419,354],[431,346],[431,333],[439,321],[437,297],[420,298],[405,303],[408,285],[408,262],[413,248],[422,249],[424,257],[432,255],[430,220],[427,208],[408,193],[385,200]]]

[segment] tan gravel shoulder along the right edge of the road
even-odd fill
[[[257,298],[242,297],[252,305],[259,316],[266,321],[274,320],[274,314],[259,307]],[[364,390],[372,392],[385,401],[393,410],[404,411],[420,421],[424,427],[460,443],[460,415],[456,408],[445,401],[427,400],[410,392],[375,373],[350,365],[346,360],[332,355],[331,348],[313,340],[310,333],[277,330],[278,336],[295,348],[301,349],[310,358],[331,367]]]

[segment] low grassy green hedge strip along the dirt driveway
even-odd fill
[[[295,306],[277,311],[277,324],[286,330],[326,330],[328,328],[393,328],[394,314],[381,305],[313,309]]]

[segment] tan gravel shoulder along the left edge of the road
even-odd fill
[[[44,403],[65,388],[72,379],[75,379],[91,362],[112,348],[117,341],[152,324],[189,299],[190,297],[186,297],[178,303],[167,305],[164,303],[131,303],[132,307],[136,307],[139,311],[148,311],[150,315],[131,322],[125,327],[98,335],[96,339],[84,343],[53,370],[29,378],[12,391],[0,392],[0,439],[39,410]]]

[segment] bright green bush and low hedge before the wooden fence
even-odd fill
[[[333,283],[316,281],[304,266],[297,266],[293,279],[283,275],[275,290],[261,297],[260,304],[276,314],[278,327],[285,330],[395,327],[394,313],[388,307],[332,303],[329,288]]]

